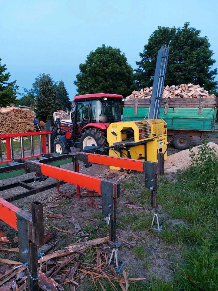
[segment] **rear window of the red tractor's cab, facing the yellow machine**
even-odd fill
[[[120,102],[114,100],[103,101],[104,115],[107,121],[121,121]]]

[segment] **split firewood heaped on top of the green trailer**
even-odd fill
[[[148,99],[151,97],[153,87],[146,87],[139,91],[133,91],[131,95],[127,96],[126,99],[139,98]],[[204,90],[200,85],[193,84],[181,84],[178,86],[166,86],[163,89],[162,98],[216,98],[214,94],[209,94],[208,91]]]

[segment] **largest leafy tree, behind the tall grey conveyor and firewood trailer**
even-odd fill
[[[135,78],[138,88],[152,86],[157,52],[162,45],[169,44],[165,85],[193,83],[216,92],[218,82],[215,81],[217,69],[212,68],[215,63],[213,52],[207,37],[200,37],[200,32],[190,27],[189,22],[183,28],[158,26],[140,53],[141,60],[136,62],[138,69],[135,70]]]

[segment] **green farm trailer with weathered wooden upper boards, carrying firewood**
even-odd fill
[[[147,119],[149,99],[125,99],[124,121]],[[167,122],[169,140],[173,145],[187,149],[193,136],[204,138],[215,130],[217,98],[162,99],[159,118]]]

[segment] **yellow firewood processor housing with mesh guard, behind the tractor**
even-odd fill
[[[132,159],[158,162],[157,154],[160,152],[164,153],[167,149],[167,123],[163,119],[150,119],[114,122],[109,125],[107,128],[107,142],[109,146],[113,146],[116,143],[128,145],[127,142],[129,141],[136,143],[135,146],[129,148]],[[142,141],[147,142],[137,144]],[[117,157],[117,155],[120,156],[120,152],[110,149],[109,155]],[[127,157],[127,151],[123,150],[123,158],[125,157]],[[164,160],[166,159],[167,153],[164,154]],[[110,169],[120,168],[110,166]]]

